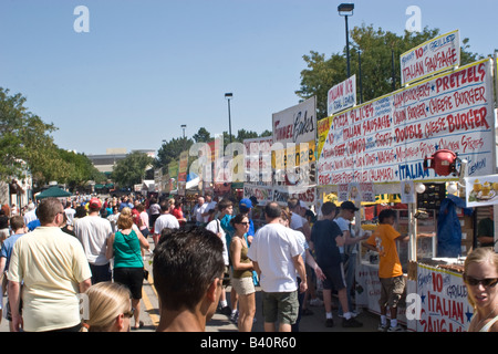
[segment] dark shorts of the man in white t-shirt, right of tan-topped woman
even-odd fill
[[[299,314],[298,291],[262,292],[262,312],[264,322],[279,321],[283,324],[294,324]]]

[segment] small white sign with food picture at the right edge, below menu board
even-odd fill
[[[498,175],[466,177],[464,179],[468,208],[498,204]]]

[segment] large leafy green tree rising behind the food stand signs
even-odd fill
[[[438,29],[428,28],[419,33],[405,31],[403,35],[383,31],[381,28],[375,30],[372,24],[353,28],[350,31],[351,75],[356,74],[356,81],[360,80],[359,53],[361,53],[363,102],[401,88],[400,55],[438,34]],[[478,54],[468,51],[468,39],[463,40],[465,45],[460,49],[460,65],[479,59]],[[329,90],[346,79],[344,53],[333,53],[330,59],[314,51],[311,51],[310,55],[303,55],[308,69],[301,71],[301,87],[295,94],[303,100],[317,96],[319,119],[328,115]],[[356,90],[360,98],[360,85],[356,85]]]

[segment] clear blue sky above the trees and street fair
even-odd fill
[[[0,0],[0,86],[53,123],[61,148],[158,149],[199,127],[271,131],[271,115],[299,103],[302,55],[345,45],[343,1]],[[347,2],[347,1],[344,1]],[[403,33],[407,7],[422,27],[460,30],[470,51],[498,49],[496,0],[361,0],[350,28]],[[90,32],[76,33],[77,6]]]

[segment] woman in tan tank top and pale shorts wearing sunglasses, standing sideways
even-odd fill
[[[249,244],[245,238],[249,230],[249,217],[239,214],[230,220],[235,233],[230,242],[232,264],[231,285],[239,298],[239,332],[251,332],[256,313],[256,289],[252,282],[252,261],[247,257]]]

